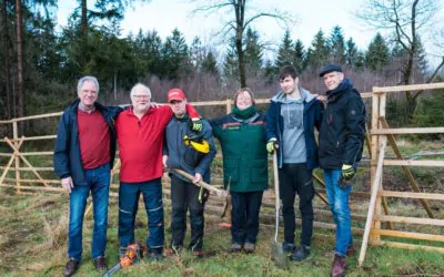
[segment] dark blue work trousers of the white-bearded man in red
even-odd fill
[[[148,216],[147,246],[149,249],[163,248],[163,204],[161,178],[141,183],[120,182],[119,188],[119,244],[121,249],[134,243],[134,222],[140,194]]]

